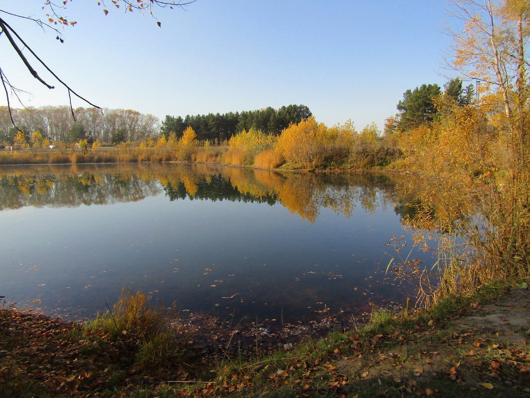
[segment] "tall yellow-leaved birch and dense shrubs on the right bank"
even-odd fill
[[[453,2],[465,21],[453,32],[453,67],[481,82],[480,99],[439,97],[432,128],[402,137],[422,154],[417,172],[435,181],[418,195],[415,225],[440,231],[441,293],[530,272],[530,3]]]

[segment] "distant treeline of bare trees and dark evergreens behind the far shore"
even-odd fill
[[[191,126],[198,140],[224,141],[245,130],[255,129],[266,134],[278,135],[291,123],[299,123],[312,116],[305,105],[282,106],[266,109],[230,112],[227,114],[166,116],[160,120],[151,114],[142,114],[132,109],[77,108],[76,119],[68,106],[46,106],[40,108],[11,109],[0,107],[0,144],[13,144],[17,128],[22,129],[26,141],[38,131],[50,140],[73,142],[91,135],[94,140],[118,143],[137,141],[149,136],[165,135],[171,132],[178,137]],[[13,126],[11,116],[16,124]]]

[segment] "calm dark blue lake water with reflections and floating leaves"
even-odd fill
[[[69,319],[104,311],[124,287],[183,314],[359,314],[413,294],[384,272],[385,243],[407,239],[396,183],[213,165],[2,167],[0,295]]]

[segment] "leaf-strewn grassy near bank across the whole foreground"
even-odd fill
[[[122,296],[113,315],[85,325],[2,309],[0,395],[527,396],[523,287],[446,297],[413,316],[377,312],[356,330],[246,359],[208,358],[182,328],[162,327],[143,296]],[[140,354],[147,346],[150,357]]]

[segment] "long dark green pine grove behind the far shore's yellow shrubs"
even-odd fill
[[[250,129],[259,130],[264,134],[278,135],[289,124],[300,123],[310,116],[312,116],[311,111],[305,105],[282,106],[279,109],[268,107],[241,113],[229,112],[223,115],[218,113],[186,115],[184,118],[167,115],[162,122],[161,132],[166,139],[172,132],[180,137],[184,130],[191,126],[198,140],[221,142],[243,130]]]

